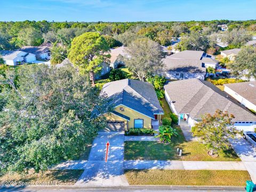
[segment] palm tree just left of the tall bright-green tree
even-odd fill
[[[62,46],[54,44],[51,48],[51,65],[61,63],[67,58],[67,50]]]

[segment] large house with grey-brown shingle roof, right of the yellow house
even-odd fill
[[[212,83],[201,79],[174,81],[164,86],[165,98],[179,124],[193,127],[205,114],[213,115],[217,109],[233,114],[238,130],[254,131],[256,116]]]

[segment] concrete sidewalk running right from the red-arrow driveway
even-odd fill
[[[251,164],[256,167],[256,162]],[[163,170],[241,170],[246,171],[244,162],[222,161],[124,161],[125,170],[163,169]]]

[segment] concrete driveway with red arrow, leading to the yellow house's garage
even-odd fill
[[[109,142],[108,161],[105,162],[106,143]],[[85,170],[75,185],[128,186],[124,175],[124,133],[99,132]]]

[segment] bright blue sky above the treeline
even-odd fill
[[[256,19],[256,0],[0,0],[1,21]]]

